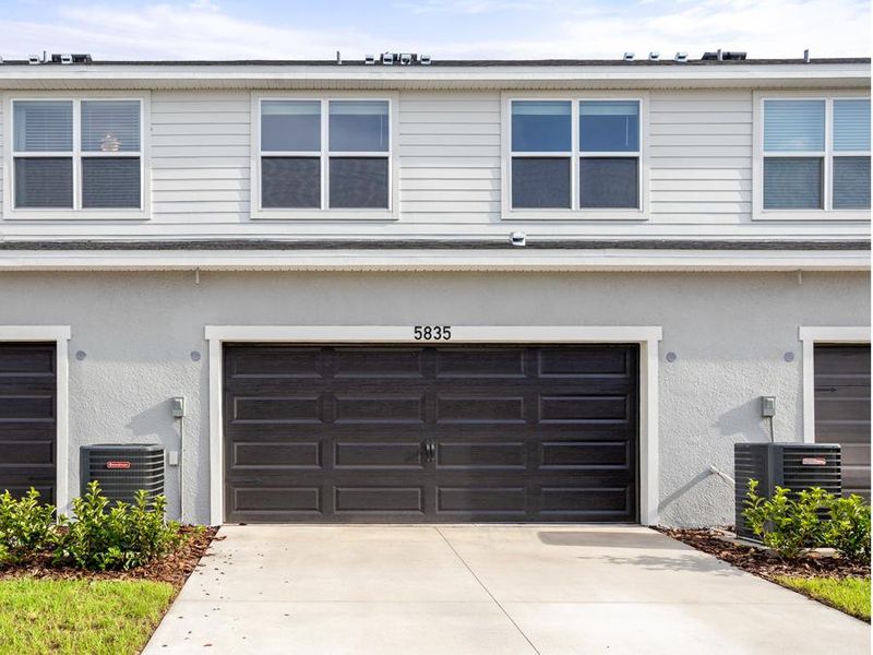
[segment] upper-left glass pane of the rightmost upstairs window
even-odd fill
[[[764,100],[764,151],[825,150],[824,100]]]

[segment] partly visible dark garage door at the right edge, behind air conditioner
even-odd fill
[[[870,499],[870,346],[815,346],[815,441],[842,448],[842,490]]]

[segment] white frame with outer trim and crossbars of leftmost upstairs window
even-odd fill
[[[68,100],[73,104],[73,150],[62,153],[16,153],[14,152],[13,103],[15,102]],[[83,100],[130,100],[140,104],[140,150],[139,152],[99,153],[82,151],[82,102]],[[151,124],[151,94],[130,92],[87,93],[40,93],[28,95],[8,95],[3,100],[3,133],[8,134],[8,145],[3,165],[9,171],[3,176],[4,221],[147,221],[151,215],[151,163],[148,126]],[[15,206],[15,157],[72,157],[73,159],[73,206],[72,207],[16,207]],[[140,158],[140,206],[139,207],[82,207],[82,158],[83,157],[139,157]]]

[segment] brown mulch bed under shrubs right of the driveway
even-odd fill
[[[720,533],[714,529],[670,527],[656,527],[655,529],[697,550],[708,552],[738,569],[770,581],[779,575],[870,577],[869,563],[853,563],[839,557],[818,552],[811,552],[796,560],[784,560],[770,550],[726,541],[723,538],[719,538]]]

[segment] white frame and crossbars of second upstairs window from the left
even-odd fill
[[[256,219],[277,221],[396,221],[399,212],[397,130],[399,124],[397,93],[252,93],[251,94],[251,216]],[[321,206],[320,207],[263,207],[261,204],[261,103],[263,100],[310,100],[321,103]],[[330,150],[331,100],[381,100],[388,104],[387,152],[339,152]],[[314,152],[266,151],[263,156],[312,157]],[[378,157],[388,162],[388,206],[361,209],[331,209],[330,183],[331,157]]]

